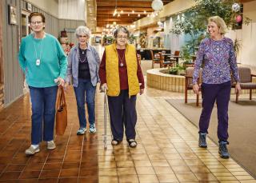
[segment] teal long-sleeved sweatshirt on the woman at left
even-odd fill
[[[37,66],[38,59],[39,66]],[[50,34],[46,34],[42,39],[34,38],[33,34],[22,38],[18,60],[26,75],[28,86],[37,88],[56,86],[54,79],[66,78],[66,54],[58,39]]]

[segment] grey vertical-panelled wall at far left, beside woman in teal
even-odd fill
[[[20,1],[2,0],[2,48],[4,65],[4,101],[5,105],[16,100],[23,94],[22,70],[18,65],[18,32],[20,24]],[[17,8],[18,25],[8,22],[9,5]]]

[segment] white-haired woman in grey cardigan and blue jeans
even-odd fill
[[[75,30],[75,35],[78,38],[78,45],[70,50],[68,56],[66,83],[70,84],[71,80],[73,82],[80,124],[77,134],[82,135],[86,132],[85,101],[89,115],[89,131],[90,133],[96,132],[94,97],[96,85],[99,82],[98,68],[100,58],[98,52],[88,43],[90,38],[88,27],[78,26]]]

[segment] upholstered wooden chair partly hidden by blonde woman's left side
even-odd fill
[[[193,78],[193,73],[194,73],[194,67],[187,67],[185,70],[185,103],[187,103],[187,91],[188,90],[193,90],[193,83],[192,83],[192,78]],[[202,69],[199,70],[199,78],[198,78],[198,86],[199,86],[199,91],[201,91],[201,83],[202,83]],[[199,94],[197,95],[197,106],[199,105]]]

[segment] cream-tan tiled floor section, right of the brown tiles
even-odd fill
[[[107,149],[98,136],[99,182],[256,182],[231,158],[218,156],[218,146],[208,141],[208,148],[198,148],[198,129],[165,99],[159,90],[148,89],[138,97],[138,147],[130,149],[126,141]],[[177,93],[176,93],[177,94]],[[163,96],[163,94],[162,94]],[[169,96],[169,97],[168,97]],[[97,113],[103,113],[102,95],[98,95]],[[98,134],[103,133],[103,116],[98,115]]]

